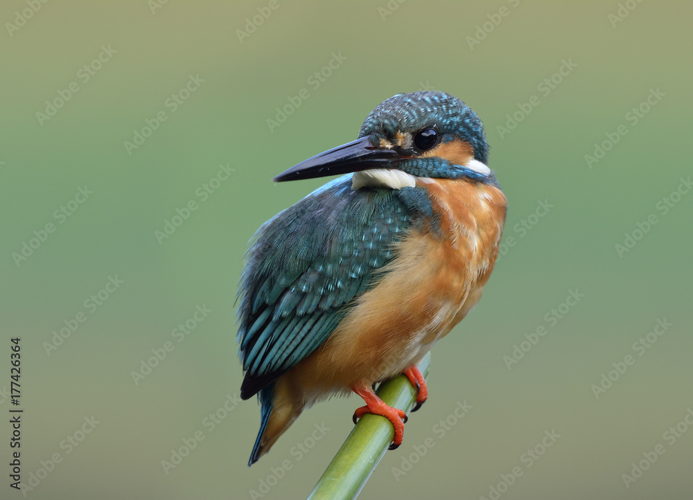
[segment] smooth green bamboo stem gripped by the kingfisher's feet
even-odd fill
[[[430,352],[419,363],[423,377],[428,377],[429,368]],[[404,375],[381,384],[376,393],[385,404],[407,412],[416,400],[416,391]],[[364,415],[317,481],[308,499],[355,499],[385,455],[393,436],[394,429],[387,418]]]

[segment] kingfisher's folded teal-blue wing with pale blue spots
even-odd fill
[[[412,222],[405,193],[352,190],[347,175],[258,229],[239,289],[242,398],[310,355],[375,284]]]

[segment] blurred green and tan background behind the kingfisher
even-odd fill
[[[1,3],[0,409],[21,337],[26,497],[306,497],[360,402],[304,412],[246,467],[245,244],[324,182],[274,175],[355,139],[394,93],[440,89],[484,120],[507,247],[362,498],[690,498],[692,16],[633,0]],[[19,498],[2,420],[0,496]],[[313,442],[316,424],[330,430]],[[545,432],[560,437],[543,449]]]

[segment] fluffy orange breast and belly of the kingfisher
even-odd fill
[[[419,361],[474,307],[498,255],[507,200],[493,186],[417,179],[438,216],[412,231],[376,287],[318,350],[290,370],[312,402],[353,384],[370,385]]]

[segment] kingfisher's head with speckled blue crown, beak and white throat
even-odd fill
[[[354,172],[353,188],[413,187],[416,177],[495,183],[481,120],[438,91],[400,93],[371,111],[358,139],[317,154],[274,178],[312,179]]]

